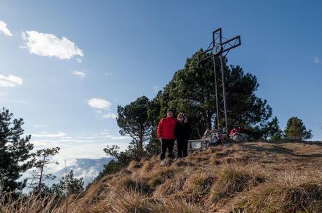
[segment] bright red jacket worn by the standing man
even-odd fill
[[[177,123],[177,119],[175,118],[162,118],[158,125],[158,137],[175,139],[175,123]]]

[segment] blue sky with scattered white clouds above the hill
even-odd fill
[[[257,76],[284,128],[322,140],[321,1],[0,1],[0,103],[36,148],[100,158],[125,148],[116,107],[170,81],[211,32],[241,35],[230,64]],[[65,39],[63,39],[65,38]]]

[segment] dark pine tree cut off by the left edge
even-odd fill
[[[15,191],[25,187],[27,180],[18,181],[22,172],[32,167],[31,135],[22,137],[23,119],[13,119],[8,109],[0,111],[0,187],[1,191]]]

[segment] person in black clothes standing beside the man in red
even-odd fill
[[[184,114],[177,116],[177,124],[175,125],[175,137],[177,138],[177,157],[185,158],[188,156],[188,139],[192,131],[188,118]]]

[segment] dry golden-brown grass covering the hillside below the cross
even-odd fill
[[[91,184],[69,212],[322,212],[322,143],[215,146],[163,167],[154,156]]]

